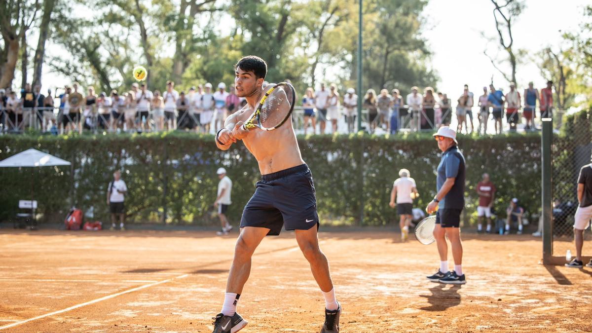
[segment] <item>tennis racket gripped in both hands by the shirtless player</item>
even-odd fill
[[[288,82],[273,85],[265,92],[253,115],[243,124],[243,129],[277,129],[292,114],[295,99],[294,87]]]

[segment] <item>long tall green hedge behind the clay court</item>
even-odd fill
[[[387,225],[397,220],[388,207],[392,182],[407,168],[425,207],[435,195],[435,169],[440,154],[431,135],[300,136],[304,160],[313,171],[318,210],[323,223]],[[540,135],[462,136],[459,146],[466,157],[466,212],[474,216],[475,186],[483,172],[497,185],[496,209],[505,210],[518,197],[529,211],[540,207]],[[215,171],[224,166],[233,180],[229,216],[237,222],[260,178],[255,159],[242,144],[219,151],[212,136],[189,133],[148,135],[0,136],[0,159],[28,148],[52,153],[72,167],[34,170],[39,212],[45,220],[62,220],[72,204],[95,219],[108,220],[106,191],[115,168],[124,170],[131,222],[211,225],[216,222],[211,204],[216,195]],[[30,197],[31,169],[0,169],[0,219],[11,219],[18,200]],[[166,189],[165,189],[166,188]],[[363,212],[363,213],[362,213]]]

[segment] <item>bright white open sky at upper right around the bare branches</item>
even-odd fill
[[[527,0],[525,11],[513,23],[513,49],[536,53],[551,46],[558,50],[562,41],[559,30],[577,30],[578,23],[583,20],[582,9],[587,3],[589,1],[585,0]],[[496,88],[510,89],[507,81],[483,54],[488,42],[481,37],[481,32],[488,37],[498,36],[493,8],[490,0],[430,0],[426,7],[424,15],[430,28],[424,37],[434,53],[433,68],[440,75],[438,88],[453,100],[456,95],[462,94],[464,84],[468,84],[475,95],[481,94],[482,87],[489,85],[491,75]],[[498,45],[498,39],[489,44],[490,56],[496,55]],[[500,52],[500,59],[506,55]],[[511,76],[509,65],[498,67],[507,70]],[[535,88],[540,89],[547,79],[542,78],[536,63],[527,59],[525,65],[517,66],[516,81],[519,91],[522,91],[529,81],[535,82]]]

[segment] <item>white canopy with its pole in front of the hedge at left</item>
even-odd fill
[[[0,161],[0,168],[31,168],[31,218],[35,220],[35,208],[34,205],[34,172],[33,168],[36,167],[54,167],[58,165],[70,165],[70,162],[65,161],[56,156],[49,155],[48,153],[40,152],[37,149],[27,149],[24,152],[17,153],[10,156],[7,159]]]

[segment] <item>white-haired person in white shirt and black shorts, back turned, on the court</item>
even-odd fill
[[[409,170],[401,169],[399,177],[392,184],[391,202],[389,206],[397,206],[397,213],[400,216],[399,226],[401,227],[401,242],[407,241],[409,225],[413,215],[413,199],[419,197],[415,180],[409,177]],[[395,196],[397,203],[395,203]]]

